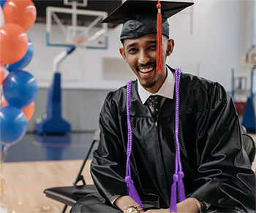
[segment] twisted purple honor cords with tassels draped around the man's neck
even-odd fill
[[[175,91],[176,91],[176,105],[175,105],[175,141],[176,141],[176,160],[175,160],[175,173],[173,174],[173,185],[171,187],[171,195],[170,195],[170,212],[177,212],[177,204],[176,204],[176,186],[178,183],[178,200],[184,201],[186,199],[183,178],[184,173],[182,171],[181,166],[181,156],[180,156],[180,148],[178,143],[178,107],[179,107],[179,82],[181,79],[181,70],[175,69]],[[126,168],[126,177],[125,182],[127,183],[127,187],[129,188],[129,196],[135,200],[137,204],[143,207],[142,201],[140,200],[140,196],[135,188],[135,185],[132,181],[131,176],[131,167],[129,163],[129,159],[132,153],[132,125],[129,117],[129,109],[130,109],[130,98],[131,98],[131,88],[132,81],[127,82],[127,127],[128,127],[128,139],[127,139],[127,168]]]

